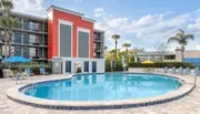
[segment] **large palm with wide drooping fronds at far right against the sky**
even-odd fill
[[[179,32],[176,34],[176,37],[171,37],[168,39],[168,43],[174,41],[181,45],[182,61],[183,61],[184,48],[187,46],[189,40],[194,40],[194,35],[193,34],[184,34],[184,31],[181,29],[179,29]]]

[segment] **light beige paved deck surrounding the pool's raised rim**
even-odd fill
[[[58,75],[34,76],[33,79],[43,80],[56,76]],[[193,81],[191,76],[187,79]],[[23,81],[23,83],[28,82],[30,81]],[[14,86],[14,81],[0,79],[0,114],[200,114],[200,77],[198,77],[197,87],[189,95],[173,102],[146,107],[98,111],[57,111],[19,104],[6,96],[7,89]]]

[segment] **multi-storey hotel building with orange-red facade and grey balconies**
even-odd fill
[[[83,13],[50,6],[48,18],[12,12],[21,22],[14,28],[13,55],[33,61],[52,61],[53,73],[104,72],[104,31]],[[4,56],[3,28],[0,54]]]

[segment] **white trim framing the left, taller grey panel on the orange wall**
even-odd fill
[[[60,56],[60,24],[66,24],[71,27],[71,58],[73,56],[73,22],[60,20],[58,23],[58,56]],[[53,31],[52,31],[53,32]]]

